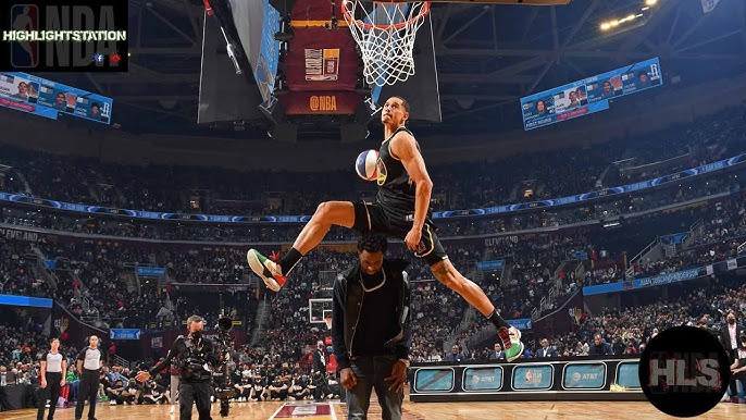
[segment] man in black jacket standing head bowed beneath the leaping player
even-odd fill
[[[401,419],[409,368],[410,287],[403,260],[384,259],[386,237],[358,240],[359,261],[334,283],[332,344],[348,419],[364,419],[375,390],[383,420]]]

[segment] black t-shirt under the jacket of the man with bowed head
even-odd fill
[[[351,351],[356,356],[384,356],[394,353],[384,343],[394,337],[397,330],[397,284],[393,279],[386,279],[381,285],[383,280],[383,270],[373,276],[362,274],[363,285],[371,292],[364,292],[362,297],[360,319],[352,338]],[[375,288],[378,285],[381,287]]]

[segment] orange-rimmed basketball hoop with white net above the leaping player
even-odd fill
[[[343,0],[341,12],[360,47],[369,85],[394,85],[414,74],[414,36],[430,13],[428,1]]]

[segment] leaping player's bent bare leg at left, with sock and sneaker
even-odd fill
[[[246,259],[251,270],[259,275],[266,287],[278,292],[287,280],[287,275],[300,259],[315,248],[326,236],[333,225],[352,227],[355,224],[356,206],[349,201],[325,201],[319,205],[311,220],[303,226],[293,248],[282,260],[273,255],[268,258],[256,249],[249,249]]]

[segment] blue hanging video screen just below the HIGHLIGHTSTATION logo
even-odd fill
[[[0,72],[0,107],[52,120],[61,112],[110,124],[112,100],[30,74]]]

